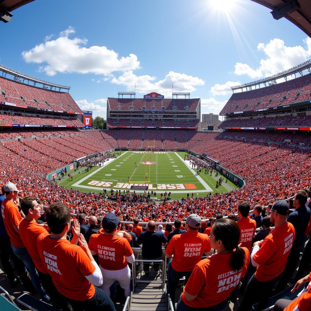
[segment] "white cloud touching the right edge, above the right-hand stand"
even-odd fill
[[[308,37],[303,42],[305,47],[286,46],[283,40],[277,38],[267,44],[259,43],[258,51],[263,51],[266,55],[265,59],[260,60],[259,67],[254,69],[248,64],[236,63],[234,73],[255,79],[268,77],[303,63],[311,56],[311,38]]]

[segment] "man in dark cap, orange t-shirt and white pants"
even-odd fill
[[[110,296],[109,287],[116,280],[124,289],[125,297],[127,297],[131,291],[131,272],[128,262],[133,263],[135,257],[128,240],[115,235],[118,222],[119,218],[113,213],[107,214],[103,219],[103,233],[91,235],[88,245],[91,254],[97,254],[98,256],[100,270],[103,275],[104,292]]]

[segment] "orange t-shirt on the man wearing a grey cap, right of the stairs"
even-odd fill
[[[176,234],[165,249],[168,255],[173,255],[172,268],[179,272],[192,271],[201,260],[203,253],[211,250],[210,239],[199,232]]]

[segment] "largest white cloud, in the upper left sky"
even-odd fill
[[[40,71],[49,76],[61,73],[95,73],[109,76],[111,72],[134,70],[139,68],[140,62],[135,54],[119,57],[114,50],[105,46],[90,46],[87,39],[75,37],[72,26],[60,32],[57,39],[51,40],[47,36],[46,41],[29,51],[23,51],[22,57],[26,63],[41,64]]]

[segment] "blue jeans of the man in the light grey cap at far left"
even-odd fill
[[[40,295],[40,297],[42,299],[49,299],[49,296],[46,294],[44,288],[41,285],[41,282],[39,280],[39,275],[38,272],[36,270],[35,264],[32,261],[27,248],[26,247],[15,247],[11,244],[12,246],[12,251],[13,253],[16,255],[16,257],[18,257],[19,259],[21,259],[22,262],[24,262],[24,265],[26,266],[30,278],[31,278],[31,282],[34,285],[36,291],[38,292],[38,294]]]

